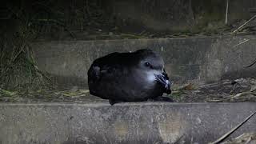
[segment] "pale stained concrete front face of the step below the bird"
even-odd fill
[[[206,143],[255,103],[2,103],[0,143]],[[256,117],[231,137],[256,131]]]

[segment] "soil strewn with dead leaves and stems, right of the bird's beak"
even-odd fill
[[[175,102],[256,102],[255,80],[222,80],[198,87],[188,84],[182,89],[174,90],[172,98]]]

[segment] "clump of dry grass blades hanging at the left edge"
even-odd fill
[[[6,40],[2,44],[0,82],[3,89],[36,87],[46,83],[44,74],[36,66],[30,49],[30,38],[27,37],[18,34],[11,42]]]

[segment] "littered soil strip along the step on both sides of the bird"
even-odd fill
[[[256,102],[256,78],[222,80],[203,86],[192,83],[179,86],[170,95],[174,102]],[[89,90],[74,86],[71,89],[40,89],[10,91],[0,89],[0,102],[108,102],[89,94]]]

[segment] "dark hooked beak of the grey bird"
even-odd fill
[[[166,94],[170,94],[171,93],[171,90],[170,90],[170,81],[169,81],[169,77],[167,76],[166,73],[162,73],[162,74],[154,74],[156,80],[162,84],[162,86],[165,87],[165,90],[166,90]]]

